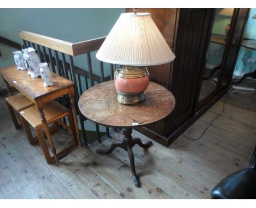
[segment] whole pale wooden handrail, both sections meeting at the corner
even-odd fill
[[[106,39],[106,37],[102,37],[73,43],[20,30],[18,31],[18,35],[23,40],[34,42],[35,44],[66,53],[71,56],[78,56],[80,54],[98,50],[103,41]]]

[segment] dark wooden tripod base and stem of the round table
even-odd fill
[[[147,142],[146,144],[143,144],[140,138],[132,138],[131,136],[132,129],[123,129],[123,133],[124,133],[123,142],[113,143],[112,145],[110,145],[110,147],[107,150],[98,149],[96,150],[96,152],[99,154],[109,154],[115,148],[123,148],[125,151],[127,151],[130,159],[130,164],[131,164],[132,179],[135,186],[139,187],[139,182],[138,182],[138,178],[135,171],[135,162],[134,162],[132,147],[135,144],[138,144],[142,148],[148,148],[150,145],[152,145],[152,142]]]

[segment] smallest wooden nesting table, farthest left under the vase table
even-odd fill
[[[18,113],[20,119],[19,112],[33,106],[34,103],[21,93],[5,98],[5,102],[7,103],[7,107],[9,109],[15,129],[20,129],[22,125],[18,123],[14,110]]]

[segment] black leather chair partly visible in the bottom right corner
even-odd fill
[[[256,199],[256,146],[249,167],[226,176],[212,189],[211,198]]]

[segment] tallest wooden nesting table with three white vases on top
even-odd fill
[[[75,132],[77,136],[77,144],[80,144],[80,138],[79,138],[79,130],[78,130],[78,123],[77,123],[77,112],[75,110],[74,105],[74,82],[59,76],[55,73],[52,73],[53,75],[53,82],[54,85],[51,87],[44,87],[43,81],[41,77],[38,78],[31,78],[31,76],[27,75],[27,70],[21,71],[17,70],[17,66],[10,66],[5,69],[1,69],[0,73],[2,74],[3,80],[5,84],[7,85],[7,90],[9,96],[12,95],[10,91],[10,85],[16,88],[20,91],[20,93],[24,94],[28,99],[30,99],[37,107],[38,109],[38,116],[40,116],[40,119],[42,120],[43,127],[46,133],[46,137],[51,140],[51,133],[48,128],[48,124],[45,119],[44,115],[44,105],[47,102],[50,102],[58,97],[61,97],[63,95],[68,95],[71,102],[71,109],[75,124]],[[47,146],[44,141],[44,146]],[[44,148],[42,147],[43,152],[46,152]],[[59,156],[56,154],[55,148],[51,148],[51,151],[54,154],[55,160],[57,161],[59,159]],[[45,153],[44,153],[45,154]],[[50,157],[46,155],[46,158],[48,158],[48,161],[50,160]]]

